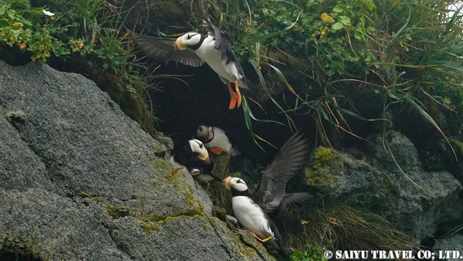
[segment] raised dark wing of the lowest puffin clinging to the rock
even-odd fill
[[[308,153],[303,134],[297,131],[281,146],[274,160],[261,173],[254,201],[263,206],[266,213],[279,208],[286,194],[286,183],[303,166]]]

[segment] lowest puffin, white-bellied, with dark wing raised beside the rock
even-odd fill
[[[279,248],[286,255],[281,235],[268,214],[282,210],[288,203],[312,197],[309,193],[286,193],[286,183],[301,170],[307,153],[308,144],[303,134],[299,131],[294,133],[262,171],[259,185],[252,196],[241,178],[228,177],[223,180],[225,187],[231,190],[231,205],[236,220],[261,242],[276,237]]]

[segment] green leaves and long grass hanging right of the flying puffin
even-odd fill
[[[410,104],[442,135],[441,112],[430,108],[447,108],[446,118],[457,125],[452,134],[461,133],[454,112],[462,109],[463,20],[451,1],[217,0],[214,5],[219,26],[241,59],[253,64],[262,86],[261,70],[270,68],[296,94],[292,103],[286,98],[276,106],[315,118],[326,145],[331,145],[326,123],[355,135],[346,116],[366,120],[362,113],[371,107],[381,111],[400,107],[397,103]],[[301,73],[295,76],[295,70]],[[370,93],[360,103],[370,99],[371,107],[362,108],[358,100]]]

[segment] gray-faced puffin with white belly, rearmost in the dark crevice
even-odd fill
[[[194,138],[201,140],[204,146],[214,154],[219,155],[222,151],[232,156],[240,154],[238,150],[231,147],[229,138],[221,128],[204,125],[199,126],[196,133],[194,133]]]

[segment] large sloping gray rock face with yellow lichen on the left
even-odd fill
[[[0,242],[43,260],[273,259],[87,78],[0,61],[0,113]]]

